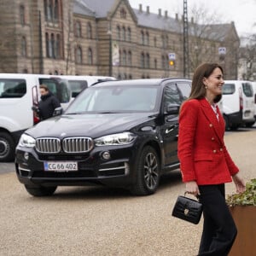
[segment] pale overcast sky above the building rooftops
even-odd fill
[[[158,14],[158,10],[161,9],[162,15],[165,10],[173,18],[176,13],[183,15],[183,0],[129,0],[129,2],[131,7],[136,9],[142,3],[144,11],[149,6],[150,13]],[[187,0],[187,5],[189,20],[191,19],[189,9],[201,6],[208,15],[217,16],[219,23],[234,21],[239,36],[256,33],[256,0]]]

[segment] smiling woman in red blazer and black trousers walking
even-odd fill
[[[203,204],[203,232],[198,255],[226,256],[236,238],[236,224],[225,202],[224,183],[245,190],[239,169],[224,145],[224,118],[217,103],[224,84],[216,63],[197,67],[189,99],[179,115],[178,157],[185,189]]]

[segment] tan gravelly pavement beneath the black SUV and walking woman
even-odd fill
[[[256,176],[256,131],[225,137],[230,154],[246,179]],[[3,167],[4,166],[4,167]],[[59,188],[55,195],[34,198],[26,193],[13,163],[0,164],[0,255],[191,256],[197,252],[198,225],[172,218],[177,195],[183,194],[180,173],[162,178],[156,194],[134,197],[122,189]],[[234,192],[232,183],[227,193]]]

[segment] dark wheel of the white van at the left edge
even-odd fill
[[[7,132],[0,131],[0,161],[15,160],[15,142]]]

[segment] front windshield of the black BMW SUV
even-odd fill
[[[67,109],[66,113],[151,112],[155,108],[157,86],[89,87]]]

